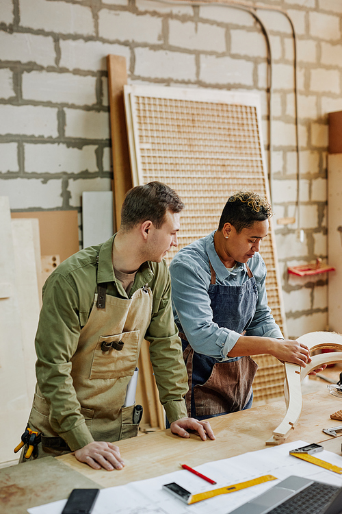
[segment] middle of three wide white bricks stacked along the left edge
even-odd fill
[[[57,137],[57,109],[0,105],[0,134]]]

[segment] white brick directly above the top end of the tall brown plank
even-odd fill
[[[161,43],[161,19],[156,16],[137,16],[131,12],[101,9],[98,13],[98,32],[109,40]]]

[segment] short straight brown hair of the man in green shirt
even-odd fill
[[[181,212],[184,204],[166,184],[148,182],[144,186],[135,186],[129,190],[121,209],[121,228],[130,230],[137,223],[152,221],[155,228],[161,228],[166,211]]]

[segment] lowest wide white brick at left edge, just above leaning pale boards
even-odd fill
[[[10,198],[11,209],[53,209],[62,207],[62,180],[16,178],[1,180],[1,195]]]

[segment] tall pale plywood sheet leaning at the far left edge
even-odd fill
[[[8,284],[1,287],[1,284]],[[0,197],[0,462],[12,461],[25,430],[29,398],[8,197]]]

